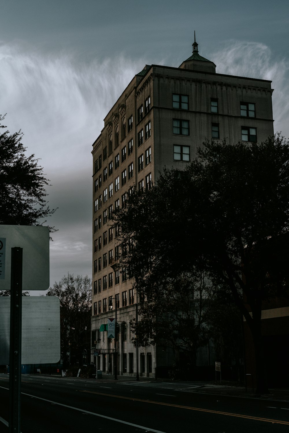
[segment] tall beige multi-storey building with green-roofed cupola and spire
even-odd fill
[[[215,70],[199,55],[196,42],[179,68],[146,65],[115,102],[93,143],[91,359],[103,372],[114,371],[107,320],[114,317],[116,299],[117,374],[136,374],[130,320],[138,300],[118,267],[114,210],[126,205],[133,185],[149,188],[165,165],[183,169],[205,139],[256,142],[273,135],[271,81]],[[139,349],[138,362],[140,375],[154,377],[156,366],[169,360],[157,347],[146,347]]]

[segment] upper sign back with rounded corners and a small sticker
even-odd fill
[[[3,245],[0,249],[0,254],[2,251],[0,290],[10,290],[11,248],[16,246],[23,248],[22,290],[47,290],[49,288],[49,228],[0,225],[0,239],[2,239],[0,247]]]

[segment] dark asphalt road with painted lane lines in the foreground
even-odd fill
[[[0,432],[9,376],[0,375]],[[21,432],[288,432],[289,402],[199,394],[188,384],[22,376]]]

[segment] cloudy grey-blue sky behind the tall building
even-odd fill
[[[144,65],[188,58],[194,31],[217,73],[272,80],[274,131],[289,137],[285,0],[0,0],[0,10],[0,113],[40,158],[58,208],[51,286],[92,275],[91,151],[104,117]]]

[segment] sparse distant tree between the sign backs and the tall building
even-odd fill
[[[60,352],[64,365],[68,365],[69,343],[71,364],[81,364],[81,354],[90,349],[91,279],[68,273],[49,288],[46,296],[57,296],[60,301]]]

